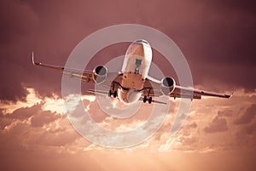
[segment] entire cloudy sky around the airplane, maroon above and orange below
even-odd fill
[[[0,167],[4,170],[255,170],[256,14],[253,1],[30,1],[0,2]],[[189,117],[170,136],[179,100],[159,131],[140,145],[107,149],[84,140],[61,100],[61,73],[32,66],[64,66],[73,48],[94,31],[140,24],[165,33],[188,61],[195,88],[233,94],[229,100],[193,100]],[[125,32],[124,32],[125,34]],[[99,40],[101,41],[101,40]],[[102,50],[88,69],[124,55],[129,44]],[[155,56],[155,57],[154,57]],[[153,62],[170,74],[164,58]],[[173,73],[172,73],[173,74]],[[86,86],[85,86],[86,88]],[[106,128],[129,129],[152,109],[117,121],[93,95],[86,110]]]

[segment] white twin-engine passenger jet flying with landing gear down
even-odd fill
[[[164,77],[161,80],[148,76],[149,67],[152,61],[152,48],[143,39],[131,43],[125,53],[125,59],[121,71],[110,72],[105,66],[96,66],[93,71],[80,71],[63,66],[53,66],[36,62],[32,53],[32,64],[62,71],[63,74],[76,77],[85,83],[96,83],[100,86],[107,86],[108,91],[88,89],[94,94],[105,94],[109,97],[118,98],[125,105],[136,103],[142,100],[148,104],[166,102],[154,100],[153,97],[167,95],[176,98],[201,99],[201,96],[212,96],[219,98],[230,98],[228,94],[218,94],[203,91],[195,88],[185,88],[176,85],[172,77]]]

